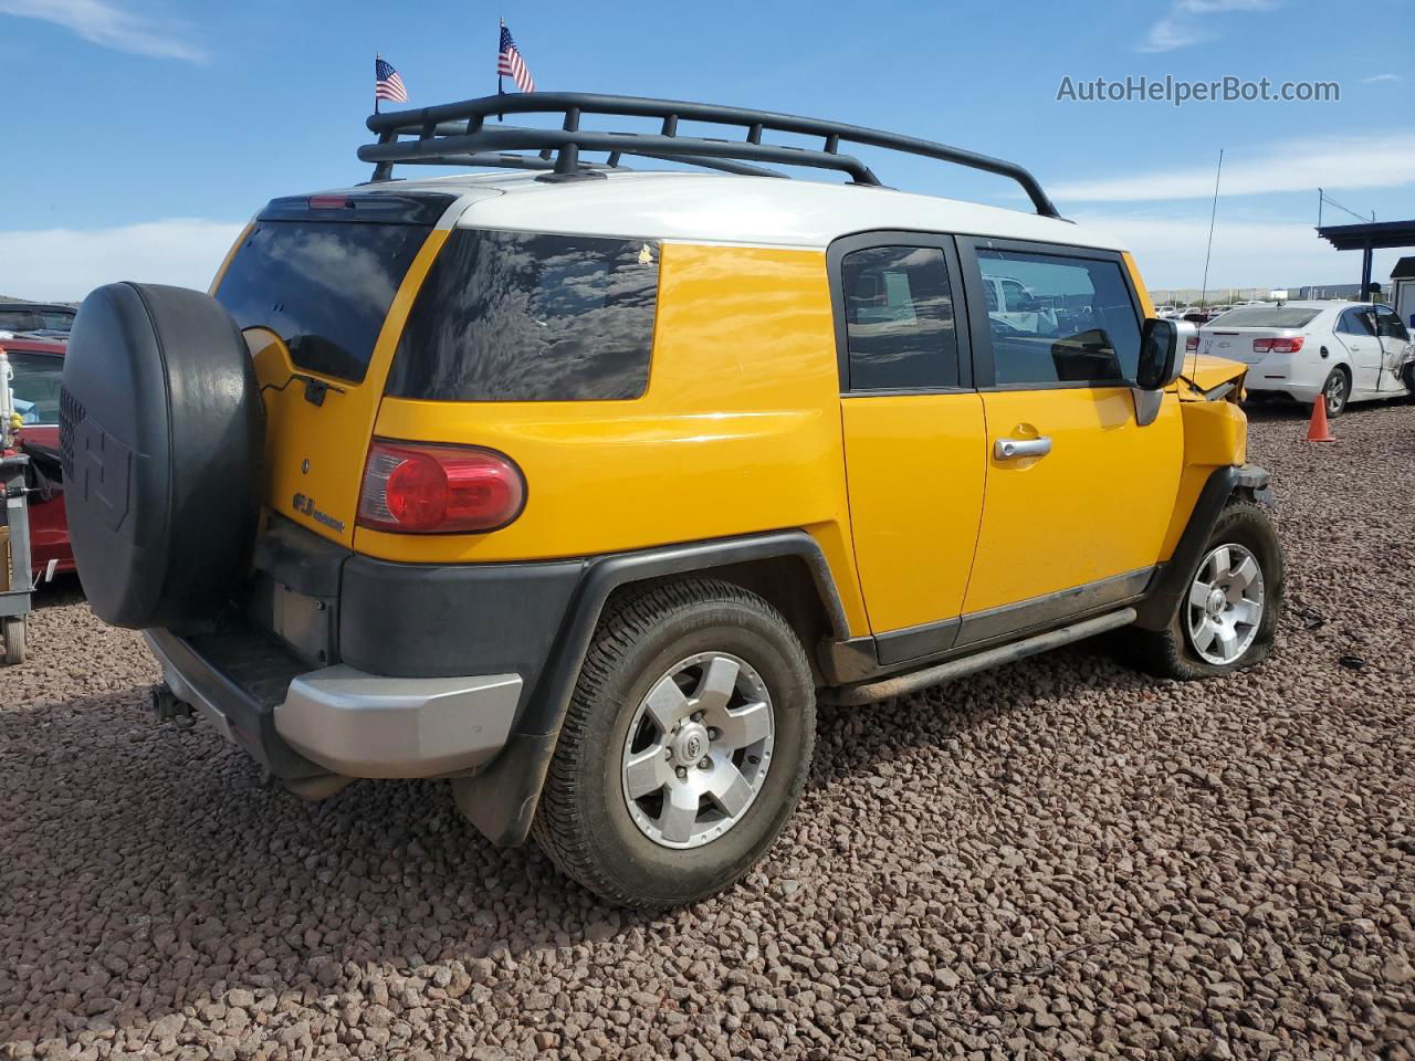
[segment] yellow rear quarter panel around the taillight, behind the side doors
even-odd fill
[[[852,632],[865,632],[839,405],[825,255],[668,243],[642,398],[383,400],[381,437],[488,446],[515,460],[528,491],[511,526],[422,536],[359,528],[354,546],[424,563],[536,560],[805,528]]]

